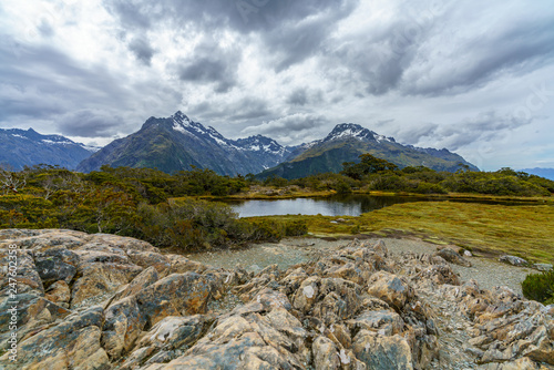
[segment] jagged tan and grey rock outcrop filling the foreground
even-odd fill
[[[1,369],[554,369],[553,307],[462,282],[440,255],[355,240],[248,274],[71,230],[0,230],[0,248]]]

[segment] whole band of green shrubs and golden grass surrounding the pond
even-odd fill
[[[507,251],[547,261],[554,257],[553,207],[413,203],[331,224],[322,216],[240,219],[223,203],[201,198],[277,198],[336,193],[413,193],[441,196],[542,197],[552,199],[554,182],[502,168],[456,173],[425,167],[397,168],[369,154],[345,163],[340,174],[263,182],[254,175],[219,176],[192,168],[157,169],[103,166],[90,174],[55,166],[0,171],[0,227],[70,228],[133,236],[160,247],[184,250],[236,247],[284,236],[419,233],[476,250]],[[552,203],[547,203],[552,204]],[[389,234],[390,234],[389,233]]]

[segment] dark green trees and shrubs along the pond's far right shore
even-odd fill
[[[337,193],[378,191],[494,196],[551,196],[554,193],[553,181],[507,167],[495,172],[475,172],[461,164],[455,173],[437,172],[423,166],[400,169],[393,163],[371,154],[360,155],[359,163],[343,163],[340,174],[327,173],[291,181],[268,177],[264,184],[275,187],[298,185],[311,189],[334,189]]]

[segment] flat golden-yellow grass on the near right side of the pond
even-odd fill
[[[458,202],[397,204],[359,217],[271,216],[305,219],[315,236],[416,235],[481,254],[511,254],[532,261],[554,260],[554,206],[506,206]],[[343,222],[331,223],[342,218]]]

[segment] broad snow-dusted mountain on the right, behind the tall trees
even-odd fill
[[[299,145],[287,162],[259,174],[259,177],[305,177],[324,172],[340,172],[342,163],[358,162],[359,155],[370,153],[399,167],[427,166],[437,171],[456,171],[459,164],[478,169],[463,157],[448,150],[420,148],[397,143],[393,137],[353,123],[341,123],[322,140]]]

